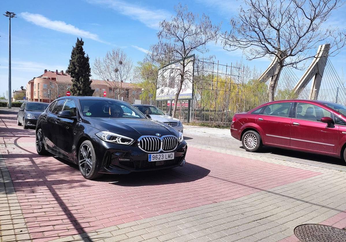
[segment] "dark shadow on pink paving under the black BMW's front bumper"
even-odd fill
[[[98,181],[117,186],[155,186],[193,182],[209,175],[210,170],[198,165],[186,163],[184,167],[164,170],[132,172],[126,175],[107,174]]]

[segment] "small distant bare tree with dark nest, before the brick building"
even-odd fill
[[[133,62],[121,48],[108,51],[102,59],[95,58],[93,72],[115,89],[115,97],[125,93],[127,82],[132,79]]]

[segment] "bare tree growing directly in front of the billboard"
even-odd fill
[[[174,7],[176,15],[171,21],[160,22],[160,31],[157,33],[158,43],[151,46],[151,57],[161,66],[177,61],[180,65],[175,65],[176,79],[178,79],[177,92],[174,103],[178,101],[183,83],[192,77],[192,71],[186,68],[193,59],[188,58],[195,52],[206,53],[206,43],[216,40],[219,26],[213,26],[209,17],[205,14],[199,17],[198,14],[188,12],[188,7],[178,4]],[[171,71],[165,69],[165,71]],[[175,115],[176,105],[173,108]]]

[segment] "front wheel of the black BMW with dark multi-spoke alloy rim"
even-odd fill
[[[99,161],[90,141],[86,140],[81,144],[78,150],[77,159],[79,170],[84,178],[93,180],[103,175],[99,173]]]

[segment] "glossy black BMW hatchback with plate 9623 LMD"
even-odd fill
[[[94,179],[185,165],[183,135],[132,105],[100,97],[63,97],[52,102],[36,126],[36,149],[79,165]]]

